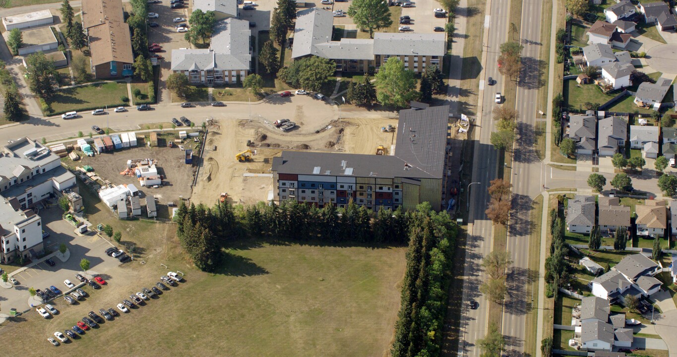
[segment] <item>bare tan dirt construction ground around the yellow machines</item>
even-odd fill
[[[309,119],[307,119],[309,120]],[[310,119],[311,120],[311,119]],[[297,122],[298,123],[298,122]],[[309,123],[310,124],[310,123]],[[395,119],[341,119],[332,121],[324,129],[313,133],[307,127],[320,127],[313,123],[298,131],[283,133],[268,121],[235,121],[223,119],[208,127],[203,167],[198,175],[191,201],[213,205],[220,192],[227,192],[232,203],[253,204],[266,201],[272,190],[270,177],[255,177],[244,173],[271,173],[272,158],[280,156],[282,149],[322,150],[324,152],[350,152],[374,154],[376,146],[383,145],[392,152],[394,133],[383,133],[381,127],[397,125]],[[224,135],[223,133],[227,133]],[[254,161],[240,163],[235,155],[247,149],[247,140],[255,142]],[[216,146],[216,151],[214,151]],[[185,197],[185,196],[184,196]]]

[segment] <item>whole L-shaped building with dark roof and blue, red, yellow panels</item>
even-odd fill
[[[371,209],[441,209],[449,161],[449,106],[399,112],[393,156],[283,151],[273,159],[274,199],[324,207],[351,199]]]

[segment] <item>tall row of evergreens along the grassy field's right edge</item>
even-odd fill
[[[393,357],[439,356],[456,224],[446,212],[419,205],[409,222],[407,270],[395,325]]]

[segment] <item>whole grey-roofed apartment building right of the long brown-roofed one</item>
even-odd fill
[[[241,83],[251,68],[250,35],[246,20],[217,22],[210,48],[171,51],[171,70],[185,74],[193,84]]]

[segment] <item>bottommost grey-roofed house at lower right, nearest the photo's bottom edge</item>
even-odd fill
[[[626,328],[626,315],[610,312],[609,301],[594,296],[584,297],[581,306],[574,308],[572,324],[575,338],[580,337],[581,350],[608,352],[632,345],[633,330]]]

